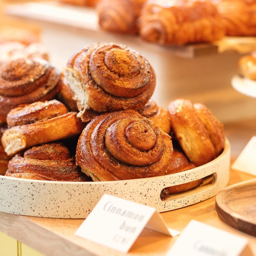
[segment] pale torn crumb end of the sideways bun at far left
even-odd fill
[[[7,130],[2,137],[5,152],[8,156],[14,155],[26,147],[26,138],[18,131]]]

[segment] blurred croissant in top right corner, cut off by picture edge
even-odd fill
[[[256,35],[255,0],[213,0],[229,36]]]

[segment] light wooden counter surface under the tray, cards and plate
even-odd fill
[[[225,125],[225,128],[226,135],[231,142],[231,155],[234,159],[249,139],[256,135],[256,119],[233,122]],[[229,185],[252,178],[255,176],[231,170]],[[223,223],[215,210],[215,197],[185,208],[163,212],[161,215],[168,228],[179,231],[182,231],[188,222],[194,219],[246,237],[256,255],[256,237],[242,233]],[[124,255],[75,236],[74,233],[82,222],[82,219],[51,219],[0,213],[0,231],[46,255]],[[145,229],[134,243],[129,254],[140,256],[165,255],[176,239],[177,237],[171,238]]]

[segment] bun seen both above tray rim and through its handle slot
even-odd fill
[[[196,168],[196,166],[192,163],[189,163],[188,159],[184,154],[174,150],[172,159],[170,161],[170,166],[166,172],[166,175],[187,171],[193,168]],[[201,184],[202,184],[202,179],[198,179],[188,183],[167,187],[161,191],[160,197],[162,200],[165,200],[168,195],[181,193],[189,189],[198,187]]]

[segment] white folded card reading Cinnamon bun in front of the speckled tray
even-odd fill
[[[128,252],[145,227],[168,236],[179,234],[165,226],[155,208],[105,194],[75,234]]]

